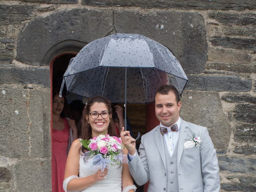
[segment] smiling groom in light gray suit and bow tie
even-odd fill
[[[149,180],[148,192],[219,192],[218,159],[208,130],[182,120],[180,107],[174,86],[158,88],[155,111],[160,125],[142,136],[140,156],[134,138],[122,131],[130,173],[138,185]]]

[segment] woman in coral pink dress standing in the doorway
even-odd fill
[[[68,154],[68,146],[77,139],[76,122],[67,120],[67,102],[64,96],[53,94],[52,100],[52,192],[64,192],[62,184]]]

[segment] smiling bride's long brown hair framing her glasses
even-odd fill
[[[111,109],[111,104],[108,100],[106,100],[104,97],[101,97],[101,96],[95,96],[95,97],[92,97],[88,100],[87,102],[87,105],[86,105],[86,115],[90,115],[90,109],[91,109],[91,106],[94,104],[94,103],[104,103],[106,105],[106,108],[108,109],[108,112],[110,114],[112,114],[112,109]],[[82,118],[85,118],[85,117],[82,117]],[[109,116],[110,118],[110,116]],[[83,131],[82,131],[82,136],[81,138],[82,139],[91,139],[92,138],[92,127],[90,125],[90,123],[88,123],[88,121],[86,121],[85,123],[85,126],[83,128]],[[112,126],[112,123],[111,123],[111,118],[110,118],[110,123],[108,125],[108,134],[110,136],[117,136],[116,134],[116,131],[114,129],[114,127]],[[82,151],[84,151],[85,148],[82,146]]]

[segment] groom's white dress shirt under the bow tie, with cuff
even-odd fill
[[[179,117],[178,120],[174,123],[174,124],[177,124],[177,126],[178,126],[178,131],[177,132],[171,131],[171,126],[174,125],[174,124],[172,124],[170,127],[166,127],[166,126],[163,126],[160,122],[160,127],[166,127],[167,130],[168,130],[168,132],[163,135],[163,139],[166,143],[166,146],[168,147],[168,151],[169,151],[171,157],[172,157],[174,148],[175,148],[175,146],[178,142],[179,136],[180,136],[180,122],[181,122],[181,120],[180,120],[180,117]],[[136,152],[135,152],[134,155],[130,155],[128,153],[130,161],[133,160],[135,155],[136,155]]]

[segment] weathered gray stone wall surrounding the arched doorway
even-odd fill
[[[256,1],[2,0],[0,13],[0,191],[51,190],[50,62],[114,32],[176,55],[181,116],[208,127],[221,191],[256,191]]]

